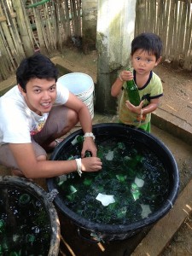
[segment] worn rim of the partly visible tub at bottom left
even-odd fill
[[[48,256],[58,255],[61,235],[60,221],[55,209],[55,205],[53,202],[48,200],[47,192],[37,183],[33,183],[25,177],[15,177],[9,175],[0,176],[0,185],[1,184],[8,186],[15,185],[15,188],[21,188],[26,191],[28,190],[32,195],[34,195],[35,192],[35,196],[38,198],[38,200],[44,203],[44,208],[49,215],[49,224],[52,230]]]

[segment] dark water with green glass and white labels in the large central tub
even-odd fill
[[[97,136],[96,144],[102,171],[55,177],[64,204],[102,224],[131,224],[157,211],[169,191],[168,172],[158,156],[143,143],[120,136]],[[70,146],[58,160],[80,152],[80,144]],[[101,196],[110,202],[96,199]]]

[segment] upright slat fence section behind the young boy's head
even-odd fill
[[[143,15],[144,14],[144,15]],[[155,32],[164,45],[163,60],[192,70],[192,1],[137,0],[136,31]]]

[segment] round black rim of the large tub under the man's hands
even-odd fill
[[[56,195],[55,197],[55,205],[60,209],[62,213],[67,215],[68,218],[72,219],[75,224],[77,224],[79,227],[84,228],[85,230],[92,230],[95,232],[100,233],[108,233],[108,234],[123,234],[125,232],[129,232],[131,230],[140,230],[144,227],[154,224],[157,222],[160,218],[164,217],[166,213],[173,207],[174,202],[177,199],[178,191],[179,191],[179,172],[177,168],[177,162],[175,158],[172,155],[172,152],[169,148],[166,147],[165,143],[162,143],[157,137],[152,135],[151,133],[148,133],[147,131],[143,131],[142,129],[138,129],[135,127],[131,127],[130,125],[124,125],[119,123],[101,123],[93,125],[93,133],[96,135],[96,130],[104,128],[119,128],[122,129],[122,131],[131,131],[137,134],[144,135],[144,137],[149,137],[153,143],[157,143],[158,147],[163,148],[165,153],[167,154],[168,158],[170,159],[170,164],[174,169],[174,173],[172,174],[172,180],[173,180],[173,186],[172,191],[168,195],[165,203],[160,207],[159,211],[152,213],[148,218],[143,218],[142,220],[139,220],[137,222],[134,222],[132,224],[98,224],[95,222],[91,222],[88,219],[85,219],[81,216],[79,216],[77,213],[70,210],[68,207],[66,207],[61,201],[60,195]],[[78,131],[74,131],[72,134],[70,134],[63,142],[61,142],[54,150],[53,154],[50,156],[50,160],[55,160],[56,155],[59,153],[61,148],[63,147],[63,144],[70,143],[74,137],[77,135],[83,135],[83,130],[79,129]],[[55,189],[53,178],[47,179],[47,186],[49,190]],[[114,231],[115,230],[115,231]]]

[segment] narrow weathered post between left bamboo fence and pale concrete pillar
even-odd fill
[[[97,0],[82,0],[82,39],[84,53],[96,49]]]

